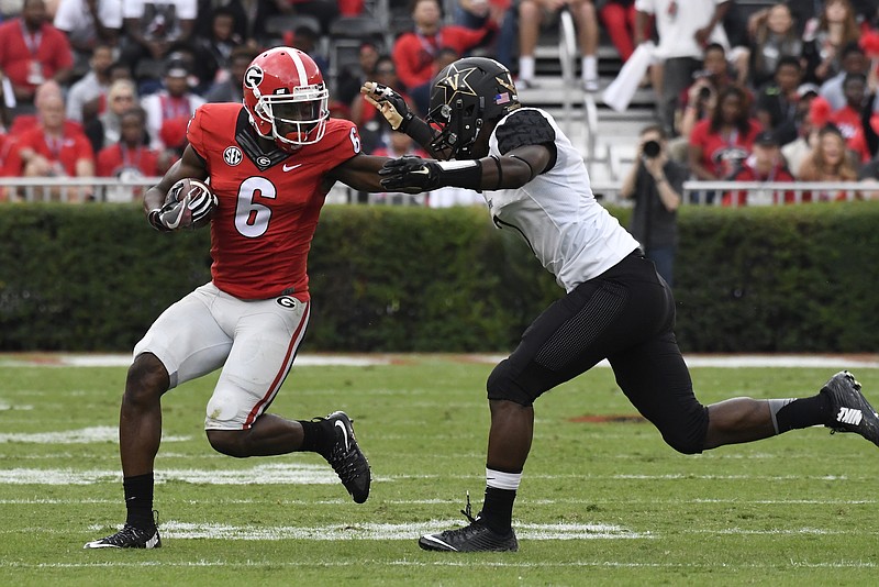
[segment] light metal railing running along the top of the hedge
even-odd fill
[[[146,188],[162,178],[140,177],[116,179],[108,177],[0,177],[0,200],[62,202],[132,202]],[[621,181],[593,181],[592,192],[603,202],[627,206],[620,197]],[[810,201],[879,199],[879,182],[858,181],[685,181],[683,203],[720,206],[726,192],[744,192],[746,206],[808,203]],[[786,202],[791,200],[790,202]],[[366,196],[344,184],[336,184],[326,197],[327,203],[421,204],[421,196],[391,198]],[[737,206],[733,198],[733,206]]]

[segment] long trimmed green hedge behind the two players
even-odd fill
[[[875,351],[877,225],[870,202],[685,208],[681,347]],[[135,206],[7,204],[0,231],[0,351],[127,352],[210,279],[208,231],[156,233]],[[479,208],[329,206],[309,273],[310,351],[507,351],[561,295]]]

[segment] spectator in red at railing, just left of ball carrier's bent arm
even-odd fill
[[[99,177],[138,179],[158,177],[168,169],[167,158],[159,163],[159,153],[147,146],[146,113],[143,108],[131,107],[119,117],[119,140],[98,152],[97,171]],[[140,197],[142,190],[129,187],[109,189],[108,201],[131,201]]]

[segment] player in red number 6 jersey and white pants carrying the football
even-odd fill
[[[294,421],[266,409],[309,321],[307,259],[324,198],[335,181],[383,191],[378,170],[388,159],[361,154],[354,123],[330,119],[323,76],[304,53],[264,52],[243,85],[244,104],[196,111],[182,157],[144,195],[149,223],[178,230],[203,221],[207,207],[177,201],[171,186],[209,180],[219,202],[210,211],[212,279],[170,306],[134,347],[120,413],[127,519],[87,549],[162,545],[153,512],[160,398],[219,368],[204,423],[214,450],[236,457],[316,452],[354,501],[369,495],[369,464],[345,412]]]

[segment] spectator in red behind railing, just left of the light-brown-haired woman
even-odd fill
[[[775,133],[764,131],[754,140],[754,153],[732,177],[734,181],[793,181],[793,176],[781,156],[780,143]],[[783,192],[785,203],[795,202],[793,191]],[[778,203],[778,193],[771,190],[727,191],[723,206]]]

